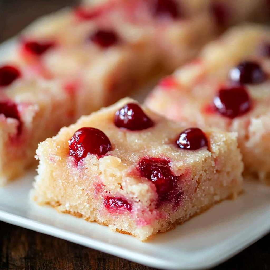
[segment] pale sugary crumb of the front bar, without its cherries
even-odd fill
[[[154,121],[149,130],[130,132],[113,124],[114,112],[129,102],[126,98],[76,124],[62,128],[59,134],[39,144],[38,176],[34,183],[34,200],[54,205],[57,211],[80,213],[87,221],[108,225],[145,241],[158,231],[166,231],[174,222],[185,221],[202,207],[236,196],[242,190],[242,161],[235,133],[204,128],[209,150],[181,151],[172,144],[187,124],[169,122],[144,108]],[[105,132],[112,151],[97,159],[87,156],[78,168],[68,157],[68,140],[83,126]],[[156,208],[157,194],[151,181],[137,175],[137,162],[142,157],[170,158],[170,169],[179,176],[181,207],[174,203]],[[115,215],[103,206],[104,196],[123,197],[133,205],[131,212]],[[179,195],[180,196],[180,195]]]

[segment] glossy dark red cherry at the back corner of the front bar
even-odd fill
[[[135,103],[128,103],[115,113],[114,124],[129,130],[143,130],[154,125],[153,121]]]

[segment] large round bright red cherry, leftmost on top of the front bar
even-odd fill
[[[109,138],[99,129],[82,127],[78,129],[69,142],[69,156],[79,162],[88,153],[102,157],[111,149]]]

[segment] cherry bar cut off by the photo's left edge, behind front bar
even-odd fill
[[[0,66],[0,185],[31,166],[38,143],[76,121],[74,103],[58,81]]]

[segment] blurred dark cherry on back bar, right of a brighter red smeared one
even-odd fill
[[[110,30],[98,30],[90,36],[90,40],[102,48],[108,48],[119,41],[117,34]]]

